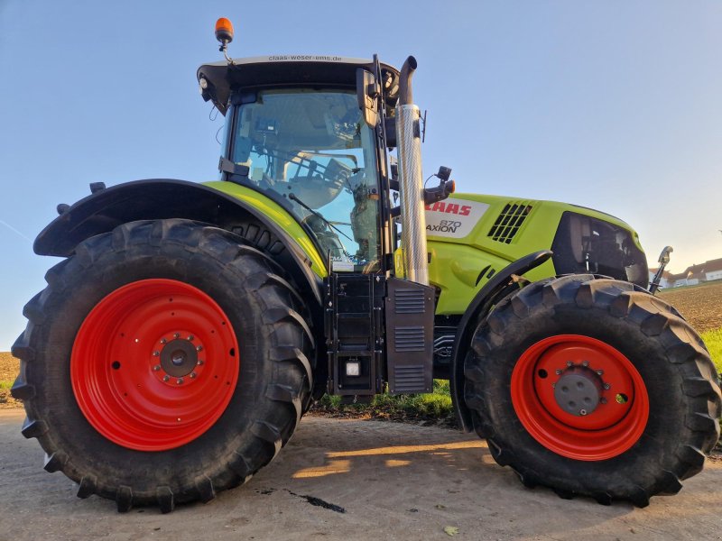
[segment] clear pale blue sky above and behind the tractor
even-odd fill
[[[314,53],[419,61],[424,169],[460,191],[592,206],[671,271],[722,257],[722,3],[0,0],[0,351],[56,260],[32,239],[88,183],[216,179],[199,64]],[[362,20],[361,17],[366,17]]]

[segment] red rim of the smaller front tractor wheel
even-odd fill
[[[576,400],[581,395],[568,400],[563,394],[569,382],[584,388],[586,381],[598,390],[598,403],[588,410]],[[557,335],[533,344],[514,367],[511,390],[516,415],[529,434],[554,453],[576,460],[625,453],[649,418],[649,397],[634,364],[589,336]]]

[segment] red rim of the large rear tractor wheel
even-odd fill
[[[116,289],[80,326],[70,381],[80,410],[117,445],[164,451],[213,426],[238,380],[236,334],[221,307],[176,280]]]

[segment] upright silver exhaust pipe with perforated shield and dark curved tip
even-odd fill
[[[412,103],[412,77],[416,66],[416,59],[410,56],[403,62],[401,69],[399,101],[396,105],[396,141],[404,271],[406,280],[428,286],[429,262],[421,171],[421,111]]]

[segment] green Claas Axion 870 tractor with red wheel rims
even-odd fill
[[[65,259],[12,392],[47,471],[169,512],[247,481],[325,393],[433,378],[524,485],[642,507],[702,469],[717,375],[628,225],[457,194],[444,167],[425,186],[412,57],[232,60],[217,37],[220,179],[93,184],[34,243]]]

